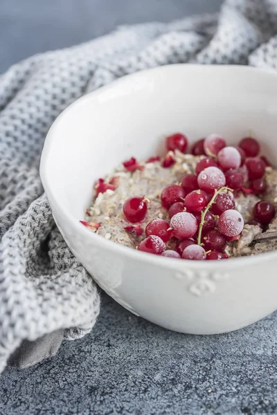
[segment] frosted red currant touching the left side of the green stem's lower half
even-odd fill
[[[193,214],[180,212],[172,216],[170,228],[178,239],[191,238],[197,231],[198,223]]]

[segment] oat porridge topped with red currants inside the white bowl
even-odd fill
[[[210,134],[188,154],[188,139],[175,133],[166,148],[163,158],[132,157],[100,178],[81,222],[165,257],[221,260],[277,249],[277,170],[258,156],[256,139],[229,147]]]

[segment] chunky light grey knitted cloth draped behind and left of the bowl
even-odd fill
[[[39,180],[49,127],[82,94],[127,73],[179,62],[277,68],[277,1],[227,0],[219,17],[123,27],[36,55],[1,75],[0,371],[26,341],[41,343],[61,330],[66,339],[80,338],[99,313],[96,285],[55,227]],[[28,365],[49,355],[36,351]]]

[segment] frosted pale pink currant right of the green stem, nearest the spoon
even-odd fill
[[[226,237],[237,237],[242,232],[244,220],[238,210],[229,209],[220,215],[217,226]]]

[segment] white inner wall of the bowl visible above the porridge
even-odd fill
[[[242,66],[172,65],[129,75],[71,104],[51,127],[42,155],[49,199],[76,220],[93,183],[123,160],[163,151],[169,133],[190,143],[217,132],[229,143],[249,134],[277,156],[277,77]]]

